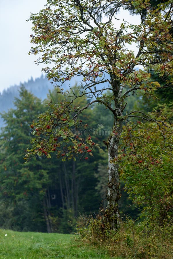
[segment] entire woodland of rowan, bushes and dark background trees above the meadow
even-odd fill
[[[121,8],[140,25],[115,28]],[[75,232],[111,251],[138,238],[128,258],[171,258],[156,240],[172,240],[172,12],[171,1],[47,0],[31,14],[28,54],[55,87],[41,101],[23,86],[1,113],[1,228]]]

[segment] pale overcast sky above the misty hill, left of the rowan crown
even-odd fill
[[[37,13],[44,8],[46,0],[0,0],[0,92],[12,85],[41,76],[41,66],[34,64],[36,57],[28,56],[32,32],[31,22],[26,22],[30,13]],[[139,19],[125,12],[119,17],[138,24]],[[120,23],[120,22],[117,22]],[[116,26],[117,27],[117,26]]]

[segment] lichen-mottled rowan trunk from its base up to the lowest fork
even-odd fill
[[[117,229],[119,220],[118,201],[119,193],[119,166],[118,166],[118,147],[119,139],[122,132],[122,119],[117,120],[115,117],[114,127],[107,142],[108,148],[108,191],[107,191],[107,210],[106,218],[110,228]]]

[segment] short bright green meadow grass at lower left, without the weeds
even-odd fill
[[[91,247],[75,235],[0,229],[0,259],[111,258],[104,247]]]

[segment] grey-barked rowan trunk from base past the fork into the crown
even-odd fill
[[[113,96],[115,103],[114,125],[113,130],[107,142],[108,149],[108,191],[107,191],[107,217],[111,225],[111,229],[117,229],[119,221],[118,201],[120,199],[119,192],[119,165],[118,165],[118,148],[119,140],[122,132],[123,117],[121,112],[121,89],[120,82],[116,81],[114,75],[111,75],[113,85]],[[109,218],[110,216],[110,218]]]

